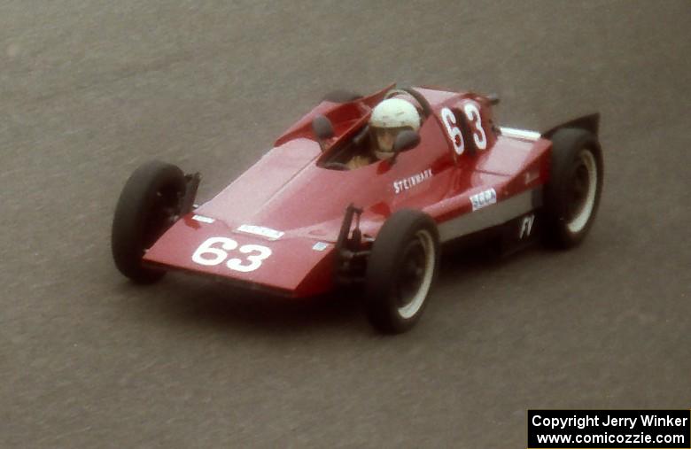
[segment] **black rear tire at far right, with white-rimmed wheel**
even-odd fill
[[[568,249],[583,240],[600,204],[602,171],[602,150],[592,133],[578,128],[555,132],[544,196],[547,244]]]

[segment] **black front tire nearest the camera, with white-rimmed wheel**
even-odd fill
[[[412,328],[423,314],[439,267],[439,232],[429,215],[393,213],[372,245],[365,305],[372,325],[388,334]]]

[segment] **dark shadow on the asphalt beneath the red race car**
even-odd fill
[[[521,259],[525,252],[534,251],[528,249],[506,256],[491,247],[445,249],[438,283],[462,283],[464,277],[482,273],[492,276],[492,270],[501,269]],[[315,331],[378,335],[365,318],[362,290],[357,288],[314,298],[281,298],[222,281],[169,273],[155,285],[140,287],[123,283],[122,289],[128,296],[138,298],[138,313],[152,314],[163,321],[193,322],[198,327],[274,335]],[[344,330],[346,328],[349,330]]]

